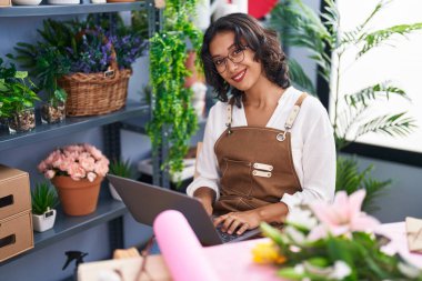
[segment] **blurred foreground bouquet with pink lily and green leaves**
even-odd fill
[[[379,222],[361,211],[364,197],[340,191],[333,204],[293,209],[282,231],[263,223],[271,241],[252,250],[254,261],[281,264],[278,275],[289,280],[422,280],[421,270],[383,252]]]

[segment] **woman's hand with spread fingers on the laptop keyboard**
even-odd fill
[[[214,220],[214,225],[221,224],[221,230],[232,234],[240,235],[248,229],[255,229],[260,225],[261,219],[257,210],[244,212],[230,212],[218,217]]]

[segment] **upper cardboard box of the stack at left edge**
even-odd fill
[[[0,164],[0,220],[31,210],[29,174]]]

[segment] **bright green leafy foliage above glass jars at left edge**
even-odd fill
[[[0,118],[33,108],[39,100],[36,88],[27,71],[18,71],[13,63],[7,67],[0,58]]]

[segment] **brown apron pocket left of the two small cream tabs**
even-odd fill
[[[225,158],[220,181],[221,194],[249,195],[252,189],[251,167],[251,162]]]

